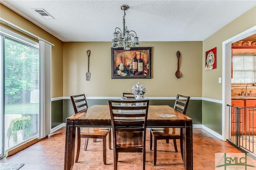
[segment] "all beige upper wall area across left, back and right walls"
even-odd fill
[[[52,97],[77,93],[86,93],[88,96],[120,96],[120,93],[140,81],[147,86],[148,97],[173,97],[176,93],[183,93],[192,97],[221,100],[222,86],[218,83],[218,77],[222,77],[222,42],[256,25],[256,7],[203,42],[141,42],[141,46],[152,47],[152,79],[111,79],[109,42],[68,42],[64,43],[62,48],[60,40],[2,4],[0,17],[54,43]],[[217,47],[217,69],[205,71],[205,52],[213,47]],[[92,51],[91,81],[85,80],[87,49]],[[181,52],[180,79],[174,75],[177,69],[178,50]],[[202,68],[200,70],[199,65]],[[74,84],[76,88],[73,88]]]

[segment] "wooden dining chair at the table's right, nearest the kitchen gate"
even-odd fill
[[[182,99],[183,98],[183,99]],[[180,113],[186,115],[188,102],[190,97],[177,95],[174,109]],[[156,166],[156,151],[157,151],[157,140],[166,140],[169,143],[169,139],[173,139],[175,152],[178,152],[176,139],[180,139],[180,152],[183,160],[183,143],[182,143],[182,128],[150,128],[150,150],[152,150],[152,138],[154,137],[154,159],[153,164]]]

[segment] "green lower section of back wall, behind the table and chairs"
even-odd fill
[[[175,100],[154,100],[150,99],[150,105],[169,105],[173,107]],[[108,105],[107,99],[87,99],[88,106]],[[70,99],[63,100],[63,123],[66,118],[74,115],[72,102]],[[186,115],[193,119],[193,124],[202,125],[202,100],[190,100]]]

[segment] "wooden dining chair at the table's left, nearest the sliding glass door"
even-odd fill
[[[74,95],[70,96],[75,114],[79,113],[81,111],[84,111],[88,108],[86,97],[84,94],[82,95]],[[84,150],[87,149],[88,145],[88,138],[93,138],[94,142],[96,142],[96,139],[102,139],[103,141],[103,162],[106,165],[106,136],[108,135],[108,146],[109,149],[111,149],[111,128],[92,128],[92,127],[84,127],[80,129],[80,127],[77,128],[77,151],[76,151],[76,160],[75,162],[78,162],[79,154],[80,154],[80,144],[81,144],[81,138],[85,138],[84,143]]]

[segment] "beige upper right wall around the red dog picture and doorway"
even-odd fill
[[[256,26],[256,6],[242,14],[218,32],[203,41],[202,47],[202,97],[222,100],[222,42]],[[205,52],[217,47],[217,68],[205,71]]]

